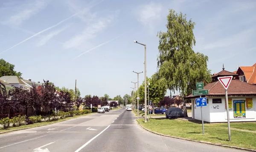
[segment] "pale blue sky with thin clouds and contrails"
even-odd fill
[[[195,52],[212,73],[256,63],[255,0],[1,0],[0,58],[24,79],[49,80],[81,96],[124,96],[157,71],[158,31],[169,9],[196,23]],[[144,73],[139,75],[140,83]]]

